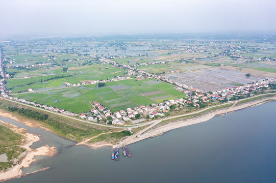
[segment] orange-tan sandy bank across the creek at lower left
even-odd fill
[[[8,180],[15,177],[20,177],[22,174],[22,168],[29,167],[33,162],[37,161],[35,156],[49,156],[52,157],[56,154],[55,147],[49,147],[48,145],[41,146],[36,149],[32,149],[30,146],[40,140],[37,135],[27,133],[26,129],[18,128],[15,125],[5,123],[4,121],[0,120],[0,123],[5,127],[8,127],[13,132],[20,134],[24,137],[24,140],[20,147],[26,149],[23,153],[19,155],[19,158],[22,158],[19,161],[19,164],[13,165],[6,171],[0,172],[0,181]]]

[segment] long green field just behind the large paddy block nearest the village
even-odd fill
[[[63,72],[62,74],[50,74],[31,77],[28,79],[8,79],[7,88],[11,89],[12,93],[20,93],[27,92],[29,88],[33,88],[36,90],[40,88],[60,87],[65,82],[77,84],[82,81],[112,79],[115,76],[126,74],[127,71],[119,68],[114,68],[111,65],[91,65],[84,67],[73,67],[70,68],[69,72],[70,74],[68,72]],[[25,73],[25,75],[27,74]]]

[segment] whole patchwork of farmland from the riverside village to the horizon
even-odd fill
[[[101,63],[99,58],[134,68],[136,64],[173,60],[136,69],[206,92],[276,77],[273,42],[94,37],[15,41],[0,46],[5,72],[11,76],[5,81],[12,95],[77,113],[90,110],[90,102],[94,101],[117,111],[185,96],[173,85],[155,79],[107,82],[104,87],[65,86],[65,82],[77,84],[126,76],[127,69]],[[266,62],[265,57],[271,60]],[[245,76],[247,73],[250,77]],[[23,79],[25,76],[29,78]],[[28,88],[35,93],[27,93]]]

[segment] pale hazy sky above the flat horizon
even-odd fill
[[[276,1],[0,0],[0,20],[1,35],[274,31]]]

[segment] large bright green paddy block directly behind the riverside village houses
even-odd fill
[[[164,100],[185,97],[173,85],[155,79],[129,79],[108,82],[106,86],[95,84],[52,89],[38,93],[16,95],[29,101],[46,104],[81,113],[92,108],[90,102],[100,102],[112,112],[135,106],[160,103]]]

